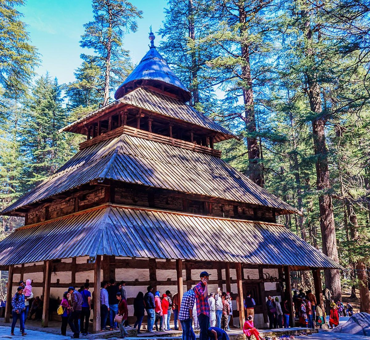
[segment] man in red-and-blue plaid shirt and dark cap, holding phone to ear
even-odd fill
[[[196,314],[201,329],[199,340],[208,340],[209,324],[209,304],[208,304],[208,280],[209,275],[206,271],[200,274],[201,281],[194,287]]]

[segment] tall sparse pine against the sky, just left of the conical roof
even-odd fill
[[[94,56],[82,54],[85,62],[93,62],[104,74],[104,100],[107,105],[110,89],[121,84],[131,69],[128,51],[122,47],[122,39],[128,31],[137,30],[139,11],[127,0],[93,0],[94,21],[84,24],[81,47],[94,50]]]

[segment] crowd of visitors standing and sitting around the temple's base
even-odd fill
[[[220,333],[230,330],[233,306],[229,292],[222,292],[218,288],[216,292],[208,292],[209,275],[206,271],[200,274],[200,281],[196,286],[184,293],[179,309],[178,294],[172,296],[169,290],[161,294],[160,291],[153,292],[153,287],[148,286],[147,292],[141,291],[134,299],[134,316],[136,322],[134,328],[141,333],[142,321],[145,312],[147,314],[147,331],[168,331],[170,330],[171,311],[174,314],[174,329],[178,330],[178,322],[181,323],[183,330],[183,340],[194,340],[194,329],[200,330],[200,340],[208,340],[209,336],[227,337],[227,334]],[[58,314],[61,316],[61,334],[66,335],[67,326],[73,332],[73,338],[77,339],[80,334],[87,335],[92,309],[90,284],[86,282],[79,290],[69,287],[63,294]],[[327,292],[323,292],[327,294]],[[330,297],[330,296],[329,296]],[[327,300],[326,296],[326,300]],[[32,301],[30,305],[30,301]],[[299,318],[299,323],[303,327],[314,328],[322,327],[326,323],[326,311],[324,306],[316,301],[316,297],[311,290],[305,293],[302,289],[294,291],[293,305],[295,307],[295,317]],[[33,299],[31,280],[19,282],[17,293],[11,301],[13,322],[11,325],[11,335],[14,335],[14,328],[17,320],[20,320],[20,331],[22,335],[27,333],[24,330],[28,312],[29,319],[35,314],[35,320],[41,320],[43,309],[43,297],[36,296]],[[246,314],[246,321],[243,331],[246,335],[255,335],[256,339],[262,339],[253,325],[254,310],[256,302],[247,293],[243,301]],[[290,306],[288,299],[283,297],[280,303],[279,297],[268,296],[266,301],[269,328],[287,328],[290,320]],[[125,281],[116,282],[114,279],[103,281],[100,290],[100,314],[101,331],[120,330],[121,338],[128,335],[126,328],[128,325],[127,292]],[[353,307],[349,302],[346,306],[341,301],[335,303],[330,300],[330,328],[339,324],[340,316],[353,315]],[[210,335],[211,334],[211,335]]]

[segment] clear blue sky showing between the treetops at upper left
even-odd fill
[[[152,25],[153,31],[161,26],[167,3],[165,0],[132,0],[132,3],[144,12],[143,19],[138,21],[138,31],[124,38],[124,48],[130,51],[135,64],[148,50],[149,26]],[[20,7],[20,12],[28,24],[31,43],[41,54],[37,73],[49,71],[59,83],[73,81],[73,72],[81,64],[83,49],[79,41],[84,33],[83,24],[92,20],[91,1],[28,0],[26,6]],[[155,43],[158,45],[159,41],[160,37],[156,35]]]

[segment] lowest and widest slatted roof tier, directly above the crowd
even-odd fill
[[[19,228],[0,242],[0,265],[96,255],[341,268],[280,224],[111,204]]]

